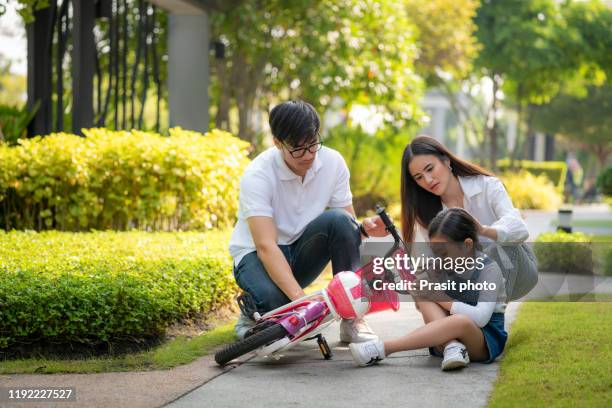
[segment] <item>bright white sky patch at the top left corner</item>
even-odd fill
[[[27,72],[27,41],[16,3],[8,2],[6,13],[0,17],[0,61],[11,61],[11,72],[25,75]]]

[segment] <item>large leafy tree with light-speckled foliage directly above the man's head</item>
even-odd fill
[[[338,96],[379,105],[402,127],[418,115],[421,79],[414,72],[413,26],[399,0],[244,1],[212,15],[213,35],[227,48],[216,60],[216,126],[228,129],[232,104],[238,135],[251,142],[257,102],[285,95],[317,108]],[[268,106],[261,106],[267,110]]]

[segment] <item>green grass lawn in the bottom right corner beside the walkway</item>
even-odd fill
[[[611,407],[612,301],[523,304],[489,406]]]

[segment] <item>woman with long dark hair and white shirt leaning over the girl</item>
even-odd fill
[[[429,136],[406,145],[401,172],[402,233],[407,242],[428,241],[427,228],[440,211],[463,208],[478,222],[485,252],[504,273],[508,299],[518,299],[536,285],[536,259],[524,244],[527,225],[497,177]],[[372,218],[364,224],[380,227],[382,221]]]

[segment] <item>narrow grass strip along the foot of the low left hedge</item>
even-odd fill
[[[192,338],[178,336],[150,351],[122,357],[74,360],[28,358],[0,361],[0,374],[102,373],[169,369],[191,363],[222,344],[234,341],[236,339],[234,322],[232,320]]]

